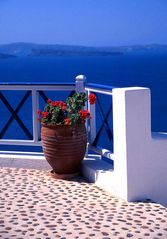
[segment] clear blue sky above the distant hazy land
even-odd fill
[[[167,44],[167,0],[0,0],[0,44]]]

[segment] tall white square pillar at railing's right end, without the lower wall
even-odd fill
[[[150,90],[113,89],[114,174],[116,194],[127,201],[148,197],[151,144]]]

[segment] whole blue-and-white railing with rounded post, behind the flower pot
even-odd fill
[[[99,84],[86,84],[85,85],[84,76],[76,77],[75,83],[1,83],[0,84],[0,103],[6,107],[10,113],[10,117],[5,120],[5,124],[0,130],[0,145],[24,145],[24,146],[41,146],[40,140],[40,123],[37,118],[37,110],[39,109],[39,100],[42,98],[45,102],[47,101],[48,91],[65,92],[67,91],[71,94],[71,91],[86,91],[88,95],[90,93],[96,94],[97,102],[96,105],[91,105],[88,103],[88,110],[91,113],[91,120],[87,123],[88,130],[88,148],[102,156],[109,159],[113,159],[113,133],[112,133],[112,119],[109,122],[109,116],[112,113],[112,101],[110,104],[107,100],[107,104],[103,101],[100,102],[100,95],[105,95],[112,99],[112,89],[113,87],[104,86]],[[24,94],[19,98],[19,103],[14,101],[14,105],[8,100],[4,92],[18,92],[23,91]],[[14,95],[13,95],[14,98]],[[27,100],[31,100],[32,107],[32,132],[27,128],[19,112],[25,105]],[[105,107],[104,107],[105,104]],[[107,110],[104,111],[104,108]],[[112,116],[111,116],[112,118]],[[4,139],[4,134],[10,127],[13,121],[16,121],[20,129],[24,132],[28,139]],[[102,132],[106,132],[106,137],[109,140],[109,148],[106,149],[99,145],[100,137],[102,137]]]

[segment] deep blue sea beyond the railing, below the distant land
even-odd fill
[[[75,77],[80,74],[87,77],[87,83],[150,88],[152,131],[167,132],[167,53],[165,52],[0,59],[0,83],[74,82]],[[14,99],[12,95],[10,98],[10,101]],[[105,108],[105,102],[102,102],[102,105]],[[4,107],[2,102],[0,107],[0,119],[4,121],[5,114],[9,117],[8,110],[2,109]],[[9,128],[11,134],[8,135],[13,134],[14,127],[15,125]],[[2,128],[1,126],[0,130]]]

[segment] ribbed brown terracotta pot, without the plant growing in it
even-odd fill
[[[84,124],[42,124],[41,139],[45,158],[56,174],[74,174],[80,170],[87,144]]]

